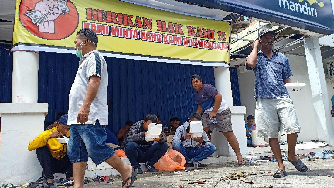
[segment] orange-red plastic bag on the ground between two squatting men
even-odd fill
[[[184,170],[185,163],[186,159],[180,152],[170,149],[153,166],[159,171],[174,171]]]

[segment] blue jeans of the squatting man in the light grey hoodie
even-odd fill
[[[205,147],[186,148],[181,142],[175,143],[173,149],[180,152],[186,158],[187,162],[191,161],[191,159],[197,162],[202,161],[216,151],[216,147],[213,144]]]

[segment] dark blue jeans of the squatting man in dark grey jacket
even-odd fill
[[[166,142],[156,143],[144,151],[136,142],[128,142],[125,146],[125,154],[132,166],[137,167],[139,163],[154,165],[159,159],[166,154],[168,144]]]

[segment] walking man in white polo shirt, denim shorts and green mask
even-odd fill
[[[108,68],[104,57],[96,50],[98,36],[89,28],[81,29],[74,43],[80,63],[68,98],[71,137],[67,150],[73,163],[74,187],[83,187],[88,155],[96,165],[105,161],[118,170],[123,179],[122,187],[130,187],[138,170],[124,165],[105,142],[109,114]]]

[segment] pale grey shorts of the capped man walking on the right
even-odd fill
[[[281,135],[300,133],[295,107],[289,97],[278,99],[256,99],[256,129],[264,138],[278,138]]]

